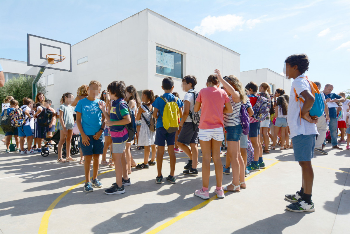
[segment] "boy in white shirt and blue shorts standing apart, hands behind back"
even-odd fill
[[[286,58],[285,68],[288,79],[292,78],[292,88],[288,105],[288,125],[290,138],[293,141],[295,161],[301,166],[301,189],[296,194],[286,194],[288,201],[295,203],[286,206],[288,211],[313,212],[314,203],[311,201],[311,192],[314,181],[314,171],[311,165],[311,158],[314,156],[316,135],[318,134],[316,124],[317,116],[310,116],[309,110],[315,102],[309,82],[302,77],[308,70],[309,60],[306,54],[294,54]],[[295,101],[295,93],[304,99]],[[311,147],[310,147],[311,146]]]

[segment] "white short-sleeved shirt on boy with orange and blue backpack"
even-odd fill
[[[289,125],[289,130],[290,130],[290,138],[293,138],[301,134],[303,135],[318,134],[316,124],[310,123],[303,118],[301,118],[301,122],[300,122],[300,110],[303,107],[303,103],[301,101],[297,101],[297,102],[295,101],[294,89],[296,91],[296,94],[299,97],[302,97],[300,93],[304,90],[309,90],[311,92],[311,87],[309,82],[306,79],[300,78],[300,77],[304,77],[304,75],[300,75],[296,77],[295,80],[292,82],[292,87],[290,89],[288,115],[287,115],[287,121]]]

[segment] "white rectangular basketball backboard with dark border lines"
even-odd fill
[[[27,34],[28,41],[28,66],[49,68],[61,71],[72,71],[71,62],[71,44],[48,39],[41,36]],[[62,55],[65,57],[63,61],[54,60],[53,64],[49,64],[46,55]],[[56,56],[55,58],[63,58]]]

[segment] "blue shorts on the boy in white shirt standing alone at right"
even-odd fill
[[[292,141],[295,161],[311,161],[314,157],[316,134],[297,135],[292,138]]]

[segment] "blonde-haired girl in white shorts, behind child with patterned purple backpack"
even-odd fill
[[[266,82],[263,82],[259,86],[259,94],[261,97],[267,98],[271,101],[271,97],[269,94],[272,94],[270,85]],[[260,123],[260,142],[264,142],[265,149],[262,151],[263,153],[270,153],[268,150],[268,145],[270,144],[270,140],[268,138],[267,129],[270,125],[270,114],[268,113],[266,119],[261,121]],[[264,145],[262,145],[264,147]]]

